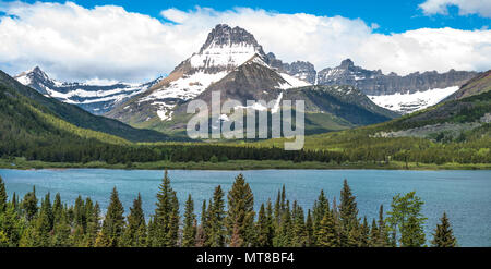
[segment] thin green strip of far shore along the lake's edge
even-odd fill
[[[325,163],[316,161],[292,162],[283,160],[229,160],[226,162],[134,162],[115,163],[87,162],[45,162],[27,161],[24,158],[15,160],[0,159],[0,169],[13,170],[67,170],[67,169],[115,169],[115,170],[216,170],[216,171],[246,171],[246,170],[407,170],[407,171],[440,171],[440,170],[491,170],[491,163]]]

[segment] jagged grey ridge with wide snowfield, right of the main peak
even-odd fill
[[[351,85],[381,107],[410,113],[436,105],[476,74],[451,70],[442,74],[432,71],[416,72],[406,76],[395,73],[384,75],[381,70],[366,70],[346,59],[337,68],[320,71],[318,84]]]

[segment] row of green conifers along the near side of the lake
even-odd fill
[[[225,198],[226,196],[226,198]],[[420,247],[427,240],[421,215],[423,201],[416,194],[396,195],[384,217],[369,223],[359,218],[356,196],[347,181],[339,204],[330,203],[321,191],[313,207],[304,209],[286,197],[285,186],[275,203],[271,199],[254,211],[254,196],[242,174],[225,194],[220,186],[201,205],[200,220],[191,195],[183,216],[165,173],[154,213],[147,219],[140,194],[128,215],[116,187],[107,211],[79,196],[73,206],[40,199],[36,189],[9,200],[0,178],[0,246],[8,247]],[[227,199],[227,206],[225,205]],[[431,246],[455,247],[457,241],[445,213],[434,230]]]

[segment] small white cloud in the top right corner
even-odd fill
[[[491,1],[489,0],[426,0],[419,5],[427,15],[448,14],[448,7],[458,7],[460,15],[479,14],[491,17]]]

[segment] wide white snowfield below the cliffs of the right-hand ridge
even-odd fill
[[[445,97],[457,91],[458,88],[459,86],[452,86],[446,88],[433,88],[424,91],[416,91],[412,94],[397,93],[393,95],[368,97],[380,107],[402,113],[411,113],[439,103]]]

